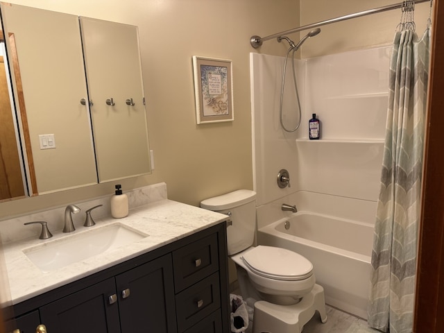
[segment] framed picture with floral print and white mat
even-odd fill
[[[197,123],[233,121],[231,60],[193,56]]]

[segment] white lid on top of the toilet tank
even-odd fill
[[[237,191],[223,194],[222,196],[215,196],[208,198],[200,203],[200,207],[205,210],[229,210],[230,208],[244,205],[254,201],[256,192],[250,189],[238,189]]]

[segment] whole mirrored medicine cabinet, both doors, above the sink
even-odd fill
[[[10,3],[1,17],[31,195],[150,173],[137,27]]]

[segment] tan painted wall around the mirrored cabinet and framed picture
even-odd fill
[[[299,1],[10,2],[139,26],[155,170],[150,176],[121,181],[124,190],[167,182],[169,198],[198,205],[209,196],[253,188],[249,40],[251,35],[298,26]],[[280,54],[279,46],[268,42],[261,52]],[[233,122],[196,125],[192,56],[232,60]],[[114,182],[1,203],[0,219],[111,195],[113,188]]]

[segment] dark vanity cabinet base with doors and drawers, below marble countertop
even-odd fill
[[[220,223],[15,305],[17,327],[22,333],[40,323],[48,333],[230,332],[227,260]]]

